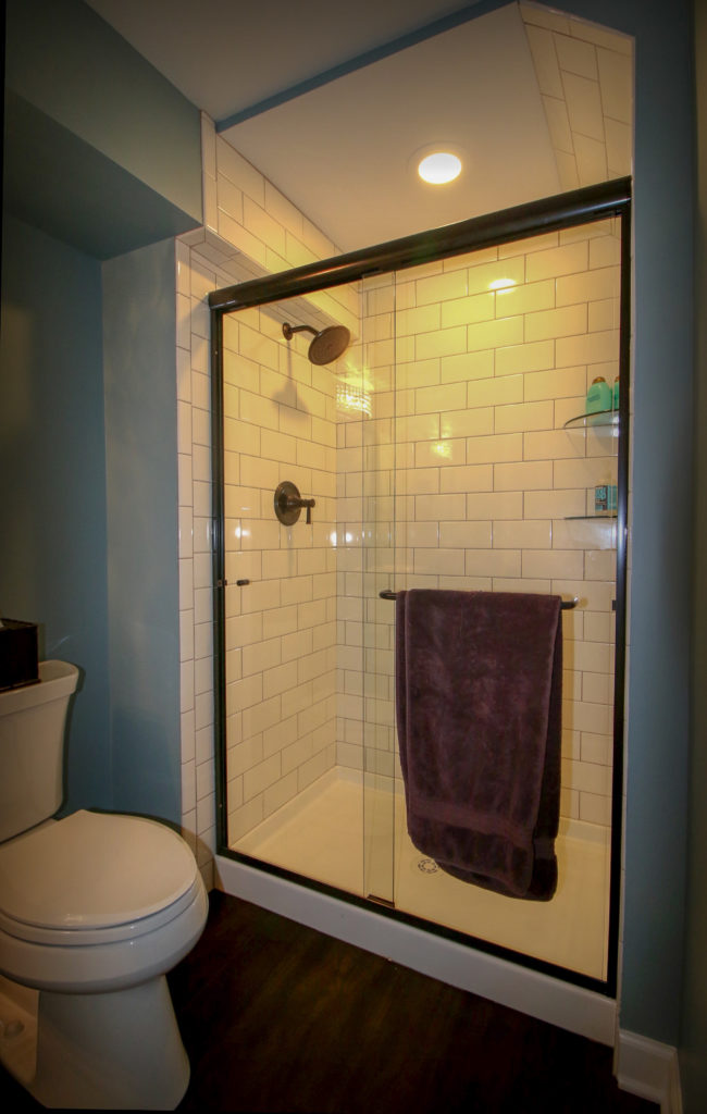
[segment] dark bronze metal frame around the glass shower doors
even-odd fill
[[[255,867],[298,885],[330,893],[354,905],[375,909],[381,916],[424,928],[438,936],[456,939],[470,948],[510,958],[513,962],[546,971],[579,987],[616,996],[619,948],[620,862],[622,837],[621,794],[623,783],[623,721],[626,685],[626,616],[627,616],[627,510],[629,478],[629,394],[630,383],[630,291],[631,291],[631,179],[617,178],[598,185],[573,189],[540,201],[529,202],[498,213],[485,214],[416,233],[372,247],[348,252],[321,262],[294,267],[272,276],[237,283],[208,295],[210,311],[212,356],[212,478],[213,478],[213,576],[214,576],[214,698],[216,734],[216,831],[217,853],[226,859]],[[510,951],[492,942],[462,936],[442,925],[421,921],[375,898],[360,898],[336,890],[291,871],[254,860],[233,851],[227,838],[226,808],[226,682],[225,682],[225,538],[224,538],[224,385],[223,385],[223,317],[237,310],[265,305],[315,291],[345,285],[376,274],[404,271],[440,258],[450,258],[482,247],[492,247],[530,236],[559,232],[577,225],[618,217],[621,224],[620,323],[616,569],[616,666],[613,693],[613,768],[611,778],[611,842],[609,882],[609,924],[606,981],[567,968]]]

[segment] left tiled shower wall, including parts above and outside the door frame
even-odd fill
[[[176,244],[181,825],[207,885],[216,842],[209,315],[210,291],[338,254],[202,117],[204,229]],[[355,292],[311,299],[357,331]],[[228,807],[257,823],[334,760],[334,382],[265,311],[226,321]],[[317,500],[283,543],[281,479]],[[287,694],[291,697],[287,697]],[[235,702],[239,694],[239,706]],[[252,818],[248,820],[248,818]],[[233,838],[233,834],[232,834]]]

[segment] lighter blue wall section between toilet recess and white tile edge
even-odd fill
[[[112,798],[180,820],[175,247],[102,265]]]

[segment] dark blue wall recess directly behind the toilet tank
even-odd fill
[[[70,808],[110,808],[100,264],[6,217],[0,332],[0,613],[85,671]]]

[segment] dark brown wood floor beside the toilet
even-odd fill
[[[184,1112],[658,1114],[610,1048],[219,892],[169,983]]]

